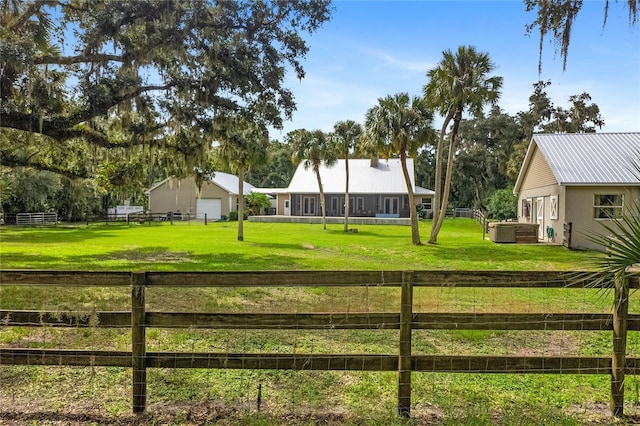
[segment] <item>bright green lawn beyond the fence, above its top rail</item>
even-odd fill
[[[430,222],[422,222],[423,240]],[[0,228],[3,269],[286,270],[286,269],[589,269],[594,253],[559,246],[495,244],[470,219],[444,222],[438,244],[411,245],[408,226],[245,223]]]

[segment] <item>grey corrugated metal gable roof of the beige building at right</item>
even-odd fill
[[[640,133],[533,135],[513,192],[540,150],[559,185],[640,185]]]

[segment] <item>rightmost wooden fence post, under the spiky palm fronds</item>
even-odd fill
[[[629,278],[615,279],[613,306],[613,357],[611,359],[611,414],[624,415],[624,374],[627,352],[627,314],[629,312]]]

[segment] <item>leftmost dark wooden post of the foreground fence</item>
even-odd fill
[[[145,342],[144,272],[131,274],[131,355],[133,412],[142,413],[147,404],[147,362]]]

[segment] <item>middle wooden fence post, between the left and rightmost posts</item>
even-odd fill
[[[400,295],[400,356],[398,357],[398,415],[411,416],[411,323],[413,321],[413,272],[402,272]]]

